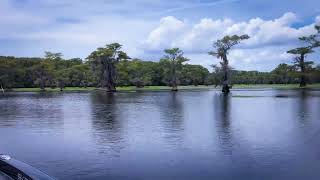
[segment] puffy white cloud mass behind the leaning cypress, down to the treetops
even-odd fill
[[[174,23],[163,23],[164,19]],[[316,19],[319,20],[319,17]],[[315,33],[314,24],[292,27],[298,21],[298,17],[291,12],[273,20],[253,18],[234,22],[232,19],[204,18],[194,24],[166,17],[151,31],[143,47],[146,53],[149,50],[179,47],[189,58],[195,58],[191,63],[209,67],[217,62],[213,60],[214,57],[206,55],[212,49],[213,41],[225,35],[248,34],[251,38],[230,52],[231,65],[238,69],[257,69],[258,64],[268,64],[260,70],[270,70],[274,65],[290,61],[291,56],[286,51],[297,45],[298,37]]]

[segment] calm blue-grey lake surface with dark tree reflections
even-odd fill
[[[0,153],[57,179],[320,179],[320,91],[12,93]]]

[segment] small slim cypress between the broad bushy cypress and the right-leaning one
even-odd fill
[[[182,69],[182,63],[188,61],[187,58],[183,57],[183,51],[179,48],[165,49],[166,55],[162,59],[168,63],[168,75],[170,76],[170,85],[172,91],[178,91],[178,76]]]

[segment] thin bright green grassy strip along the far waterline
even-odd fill
[[[235,84],[233,89],[295,89],[299,88],[298,84]],[[320,84],[311,84],[307,88],[320,89]],[[169,91],[171,87],[168,86],[145,86],[143,88],[136,88],[135,86],[117,87],[118,91]],[[220,89],[214,86],[179,86],[180,90],[208,90],[208,89]],[[98,90],[95,87],[66,87],[64,92],[78,92],[78,91],[93,91]],[[14,92],[40,92],[40,88],[15,88]],[[46,92],[59,92],[59,88],[46,88]]]

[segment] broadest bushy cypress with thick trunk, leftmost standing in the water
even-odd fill
[[[119,43],[108,44],[104,48],[93,51],[87,58],[98,71],[100,85],[108,92],[116,91],[116,64],[120,60],[130,59],[125,52],[120,50],[121,47]]]

